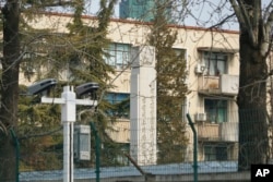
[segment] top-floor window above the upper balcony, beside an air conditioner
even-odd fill
[[[227,54],[221,52],[203,52],[203,61],[206,66],[206,74],[219,76],[227,73]]]

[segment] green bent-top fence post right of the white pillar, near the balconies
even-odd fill
[[[189,113],[187,113],[187,119],[193,132],[193,180],[194,182],[198,182],[198,135],[194,123],[192,122]]]

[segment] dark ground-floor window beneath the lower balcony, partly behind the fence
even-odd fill
[[[227,160],[227,146],[225,145],[205,145],[204,160]]]

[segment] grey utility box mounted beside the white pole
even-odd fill
[[[90,125],[74,126],[74,159],[90,160],[91,159],[91,129]]]

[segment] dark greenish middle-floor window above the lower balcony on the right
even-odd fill
[[[227,121],[227,100],[204,99],[204,109],[210,122],[222,123]]]

